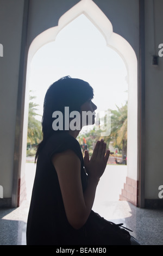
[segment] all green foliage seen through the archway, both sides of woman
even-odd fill
[[[31,91],[30,91],[31,92]],[[27,137],[27,153],[28,155],[34,155],[34,146],[42,141],[42,126],[41,122],[35,117],[37,104],[34,103],[35,96],[29,96],[29,115],[28,115],[28,137]],[[127,103],[122,107],[117,107],[116,110],[111,110],[111,134],[106,137],[102,137],[103,131],[95,130],[80,132],[77,139],[80,145],[87,144],[90,156],[92,155],[95,144],[98,140],[104,138],[106,142],[106,148],[109,148],[110,142],[114,148],[118,148],[118,151],[122,151],[122,157],[127,155]],[[84,139],[86,141],[84,141]]]

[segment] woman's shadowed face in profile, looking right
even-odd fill
[[[83,103],[83,105],[80,108],[81,121],[83,121],[83,119],[87,113],[86,123],[82,122],[83,126],[95,124],[95,110],[96,109],[97,109],[97,106],[92,102],[92,99],[89,99]]]

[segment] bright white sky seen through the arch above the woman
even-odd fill
[[[90,83],[97,111],[116,109],[128,99],[127,70],[122,58],[106,46],[104,36],[84,14],[63,28],[54,42],[41,47],[32,59],[29,89],[39,104],[37,113],[42,115],[48,87],[67,75]]]

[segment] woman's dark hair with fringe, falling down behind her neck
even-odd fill
[[[53,112],[61,111],[64,116],[65,107],[69,107],[69,112],[80,112],[80,107],[90,98],[93,98],[93,89],[90,84],[85,82],[84,80],[78,78],[71,78],[70,76],[60,78],[60,80],[54,82],[48,88],[43,103],[43,139],[37,147],[35,161],[39,156],[39,153],[47,139],[54,133],[59,132],[54,131],[52,128],[52,123],[54,120],[54,118],[52,118]]]

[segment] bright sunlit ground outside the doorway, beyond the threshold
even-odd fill
[[[27,199],[30,200],[33,181],[35,176],[35,163],[26,163],[26,188]],[[117,201],[120,198],[121,190],[126,182],[127,166],[118,164],[107,164],[96,190],[93,209],[97,212],[102,211],[107,202]]]

